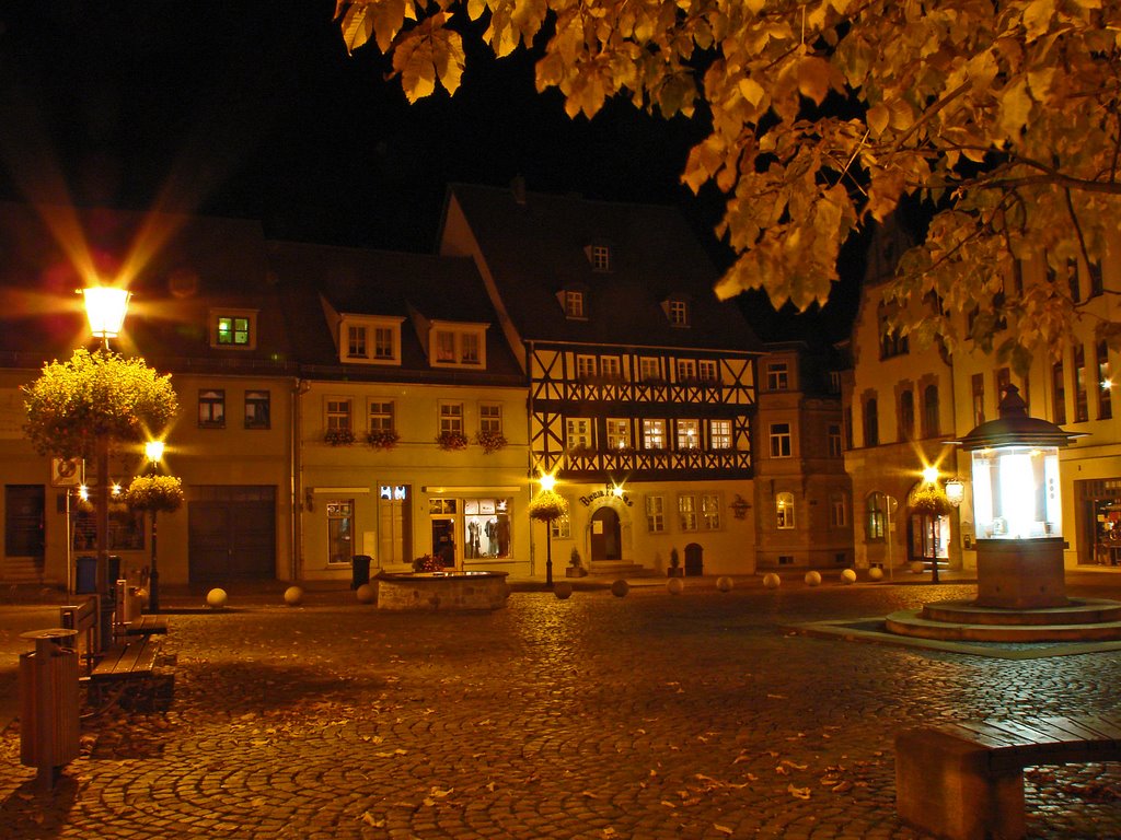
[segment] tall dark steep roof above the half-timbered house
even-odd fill
[[[519,335],[628,346],[758,352],[759,340],[734,302],[713,293],[719,273],[671,207],[615,204],[497,187],[450,187],[443,253],[471,254],[465,218]],[[592,245],[611,249],[611,270],[595,271]],[[587,288],[587,319],[565,317],[557,293]],[[689,301],[689,327],[671,326],[664,302]]]

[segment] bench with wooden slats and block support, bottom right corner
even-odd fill
[[[1023,768],[1121,759],[1121,716],[983,720],[896,736],[896,809],[949,840],[1027,831]]]

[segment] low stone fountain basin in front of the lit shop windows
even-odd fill
[[[493,610],[510,594],[504,571],[382,572],[378,609],[420,612]]]

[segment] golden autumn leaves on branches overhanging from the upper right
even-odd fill
[[[906,197],[933,216],[886,297],[900,326],[1010,327],[1022,367],[1058,347],[1100,265],[1121,183],[1121,4],[1102,0],[339,0],[346,46],[392,56],[410,101],[464,71],[463,38],[541,50],[569,115],[609,97],[706,120],[683,181],[726,197],[736,259],[717,284],[824,304],[837,255]],[[465,24],[463,18],[471,24]],[[1046,267],[1025,282],[1020,264]],[[1015,288],[1006,288],[1012,286]],[[1012,293],[1015,292],[1015,293]],[[1100,324],[1115,337],[1112,325]]]

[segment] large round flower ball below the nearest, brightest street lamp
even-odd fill
[[[63,458],[92,458],[100,438],[141,440],[163,430],[179,408],[170,375],[104,349],[78,349],[67,362],[45,364],[24,395],[31,445]]]

